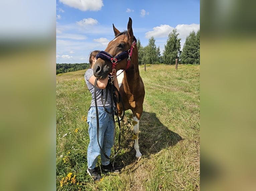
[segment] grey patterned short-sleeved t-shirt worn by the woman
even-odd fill
[[[87,85],[89,91],[92,93],[91,106],[95,106],[94,85],[92,85],[89,82],[89,79],[92,77],[92,75],[93,75],[93,69],[90,68],[85,72],[85,82],[86,82],[86,85]],[[101,90],[102,89],[96,88],[97,106],[103,106],[102,101],[101,101]],[[105,101],[105,98],[106,98],[106,89],[103,90],[103,101]],[[105,106],[110,106],[110,105],[111,105],[111,95],[110,95],[110,91],[108,91],[108,98],[107,98]]]

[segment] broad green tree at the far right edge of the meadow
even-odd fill
[[[193,30],[187,36],[181,54],[181,62],[184,64],[200,64],[200,30]]]

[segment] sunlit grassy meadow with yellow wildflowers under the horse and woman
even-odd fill
[[[200,190],[200,66],[139,68],[146,92],[139,134],[142,159],[135,161],[131,112],[126,111],[115,159],[125,168],[118,175],[103,175],[98,183],[86,172],[85,117],[91,102],[86,70],[56,76],[57,190]]]

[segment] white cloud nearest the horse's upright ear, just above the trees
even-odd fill
[[[154,37],[161,38],[166,37],[174,28],[169,25],[160,25],[153,28],[153,31],[146,32],[146,38]]]

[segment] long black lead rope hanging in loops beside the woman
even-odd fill
[[[120,124],[120,121],[123,119],[124,117],[124,102],[122,100],[122,97],[120,95],[120,92],[117,90],[117,88],[114,86],[114,84],[108,82],[108,85],[107,85],[107,88],[106,88],[106,97],[105,97],[105,101],[103,101],[103,90],[101,90],[101,101],[102,101],[102,104],[104,106],[104,109],[107,113],[110,113],[112,115],[112,118],[113,118],[113,121],[114,122],[118,122],[118,125],[119,125],[119,136],[118,136],[118,149],[117,151],[115,151],[115,154],[112,158],[109,158],[106,153],[103,151],[103,149],[101,148],[100,146],[100,143],[99,143],[99,131],[100,131],[100,126],[99,126],[99,113],[98,113],[98,106],[97,106],[97,99],[96,99],[96,88],[97,88],[97,81],[98,81],[98,78],[95,79],[95,83],[94,83],[94,101],[95,101],[95,108],[96,108],[96,119],[97,119],[97,141],[98,141],[98,145],[102,151],[102,153],[104,154],[104,156],[107,158],[107,159],[113,159],[116,157],[116,155],[118,154],[119,152],[119,149],[120,149],[120,139],[121,139],[121,124]],[[106,109],[105,107],[105,104],[106,104],[106,100],[107,100],[107,95],[108,95],[108,89],[110,89],[111,91],[111,107],[110,107],[110,112]],[[118,99],[116,97],[116,94],[115,94],[115,91],[118,92]],[[115,103],[115,107],[113,109],[113,101]],[[118,108],[117,108],[117,102],[119,103],[121,101],[122,105],[123,105],[123,116],[121,117],[121,119],[119,119],[119,116],[118,116]],[[117,121],[115,121],[115,116],[114,116],[114,113],[115,115],[117,116]],[[116,150],[116,149],[115,149]]]

